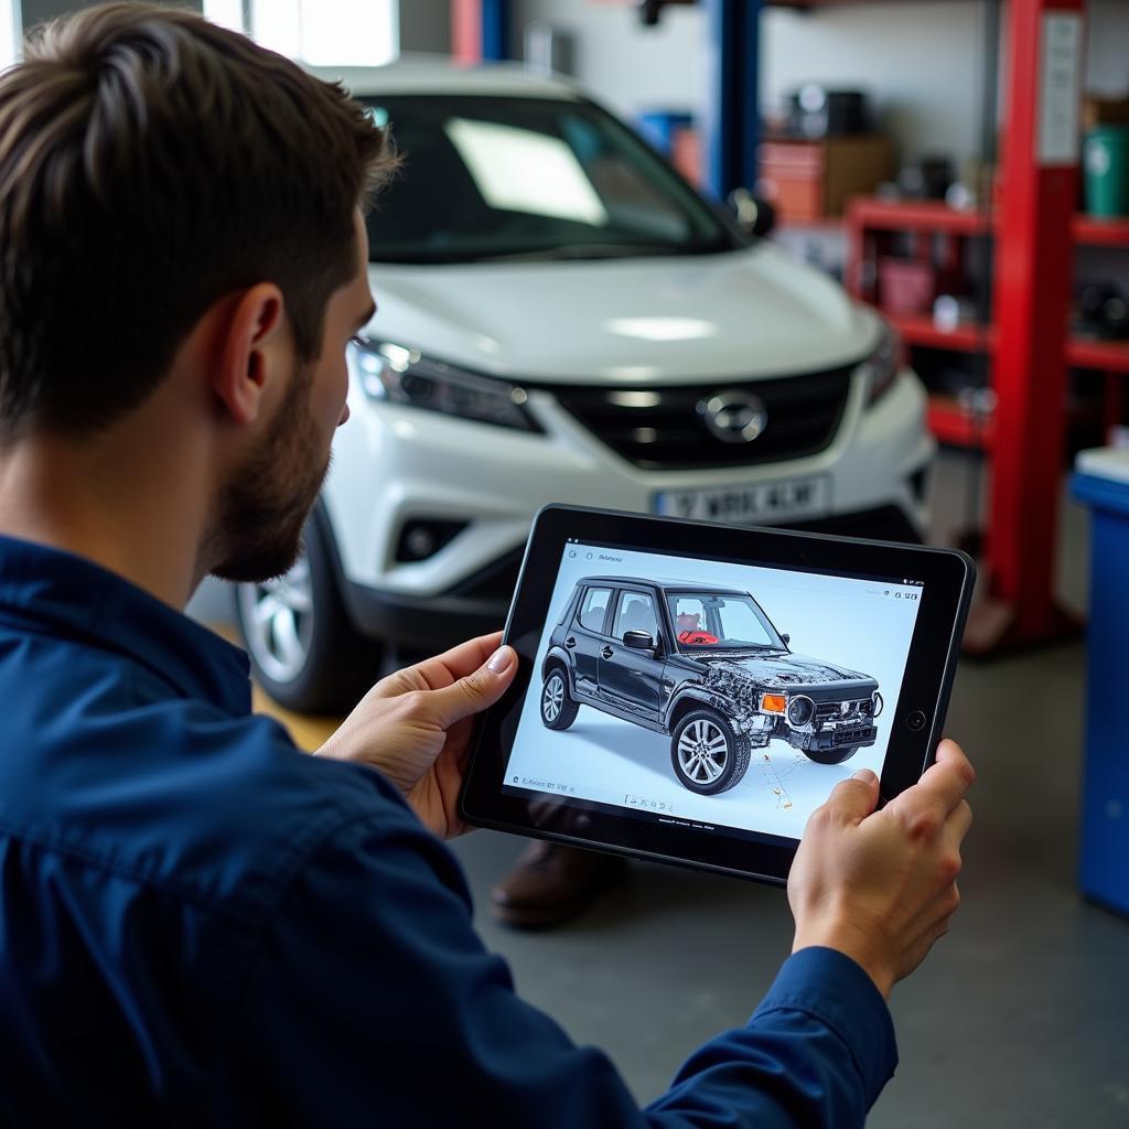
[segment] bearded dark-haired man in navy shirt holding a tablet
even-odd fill
[[[882,812],[835,789],[776,986],[640,1110],[514,994],[441,842],[514,653],[384,680],[310,756],[181,613],[295,557],[390,164],[340,89],[185,12],[89,9],[0,77],[0,1120],[860,1124],[957,904],[954,745]]]

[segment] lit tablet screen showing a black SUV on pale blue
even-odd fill
[[[882,774],[924,592],[570,540],[502,790],[798,839]]]

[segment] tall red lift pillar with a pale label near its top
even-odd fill
[[[1078,199],[1085,0],[1012,0],[996,245],[997,395],[987,579],[966,649],[1061,634],[1054,602],[1066,437],[1071,219]]]

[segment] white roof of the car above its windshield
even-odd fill
[[[469,94],[576,102],[581,97],[568,79],[535,73],[520,63],[465,65],[447,55],[405,53],[384,67],[306,65],[306,70],[327,82],[340,80],[357,98]]]

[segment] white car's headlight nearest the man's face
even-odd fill
[[[361,388],[369,400],[406,404],[518,431],[543,430],[525,408],[528,400],[525,390],[516,384],[463,371],[388,341],[361,338],[350,348]]]

